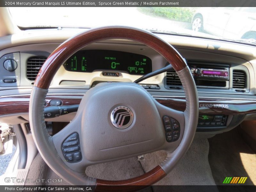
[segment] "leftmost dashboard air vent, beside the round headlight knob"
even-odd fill
[[[27,61],[27,78],[29,80],[36,80],[36,76],[44,64],[46,57],[30,57]]]

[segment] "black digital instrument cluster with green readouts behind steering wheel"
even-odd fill
[[[151,60],[135,53],[109,50],[81,50],[72,55],[64,67],[68,71],[92,72],[94,70],[127,71],[132,75],[152,72]]]

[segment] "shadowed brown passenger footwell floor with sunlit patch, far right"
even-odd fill
[[[209,163],[216,185],[226,177],[248,177],[246,185],[256,185],[256,155],[244,142],[238,129],[209,139]]]

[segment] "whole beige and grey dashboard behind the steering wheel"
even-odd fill
[[[49,31],[50,35],[42,36],[32,30],[29,33],[36,37],[32,40],[30,35],[24,38],[24,34],[2,39],[5,43],[0,46],[0,107],[3,109],[0,121],[12,124],[29,121],[29,95],[40,67],[54,49],[77,32]],[[256,119],[254,46],[159,36],[180,52],[194,77],[200,114],[197,134],[225,132],[243,120]],[[10,43],[11,39],[17,41]],[[84,93],[98,83],[133,82],[167,64],[158,52],[137,42],[108,40],[88,45],[70,56],[57,71],[45,107],[54,102],[62,106],[79,104]],[[184,90],[175,71],[150,77],[140,84],[159,103],[185,110]],[[74,115],[46,121],[68,122]]]

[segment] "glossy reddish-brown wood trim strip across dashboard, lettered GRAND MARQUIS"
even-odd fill
[[[58,99],[62,101],[62,105],[77,105],[80,103],[81,95],[48,95],[46,96],[45,107],[50,106],[50,100]],[[81,97],[81,98],[80,98]],[[184,111],[186,108],[185,98],[156,98],[162,105],[176,110]],[[216,104],[219,107],[216,107]],[[228,108],[221,108],[221,105],[228,104]],[[212,106],[211,106],[212,105]],[[214,106],[215,105],[215,106]],[[256,113],[256,100],[239,100],[239,99],[199,99],[199,114],[223,114],[223,115],[239,115]],[[204,106],[204,107],[203,107]],[[206,106],[206,107],[205,107]],[[207,107],[208,106],[208,107]],[[27,96],[10,96],[0,98],[0,115],[28,113],[29,95]]]

